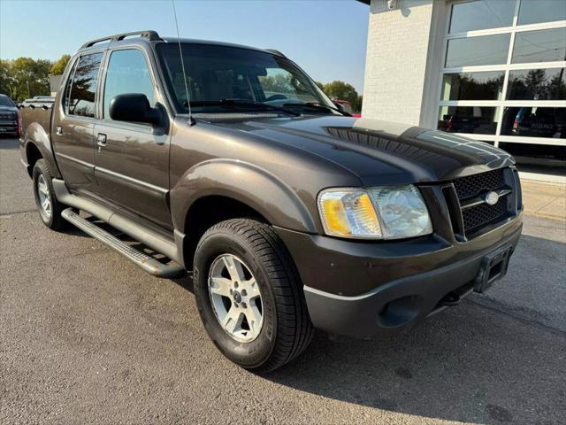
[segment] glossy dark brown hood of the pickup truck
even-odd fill
[[[340,116],[216,121],[332,161],[364,185],[438,182],[515,164],[490,144],[438,130]]]

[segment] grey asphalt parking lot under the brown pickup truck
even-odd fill
[[[508,276],[412,332],[317,335],[271,375],[210,343],[160,280],[35,213],[0,139],[0,423],[564,423],[566,226],[525,217]]]

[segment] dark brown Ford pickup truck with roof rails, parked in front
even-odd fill
[[[43,223],[192,273],[210,338],[249,369],[294,359],[314,328],[386,336],[457,305],[521,233],[509,154],[350,117],[276,50],[113,35],[20,115]]]

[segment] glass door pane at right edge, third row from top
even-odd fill
[[[566,100],[564,68],[509,72],[508,100]]]

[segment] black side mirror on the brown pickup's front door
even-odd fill
[[[149,105],[148,97],[142,93],[128,93],[112,97],[110,118],[116,121],[147,122],[157,125],[160,113]]]

